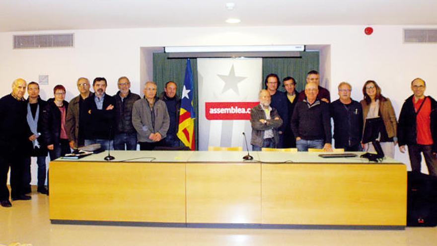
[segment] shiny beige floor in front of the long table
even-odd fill
[[[49,200],[32,194],[31,201],[0,207],[0,245],[33,246],[434,246],[437,228],[377,230],[193,229],[121,226],[52,225]],[[129,211],[126,211],[127,213]]]

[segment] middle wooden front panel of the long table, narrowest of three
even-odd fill
[[[260,164],[187,164],[187,223],[261,223]]]

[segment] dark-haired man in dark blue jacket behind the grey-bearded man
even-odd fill
[[[287,126],[289,125],[289,113],[288,113],[288,105],[287,105],[287,96],[278,91],[279,86],[281,85],[281,81],[279,80],[278,75],[269,74],[264,81],[265,88],[269,91],[271,96],[270,106],[275,108],[278,111],[279,116],[283,119],[283,124],[277,129],[279,134],[279,143],[277,148],[284,148],[284,132],[286,131]]]

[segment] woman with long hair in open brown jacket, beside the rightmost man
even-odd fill
[[[364,99],[360,101],[363,107],[363,121],[369,118],[381,117],[384,122],[379,133],[379,142],[385,156],[394,158],[394,147],[396,139],[396,115],[390,99],[381,94],[381,88],[375,81],[366,81],[363,86]],[[368,152],[374,152],[375,149],[371,143],[363,146]]]

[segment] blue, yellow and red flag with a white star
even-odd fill
[[[191,72],[191,62],[187,59],[187,68],[185,69],[184,88],[182,90],[181,110],[179,113],[179,130],[178,138],[189,147],[195,150],[194,142],[194,119],[196,115],[193,108],[193,74]]]

